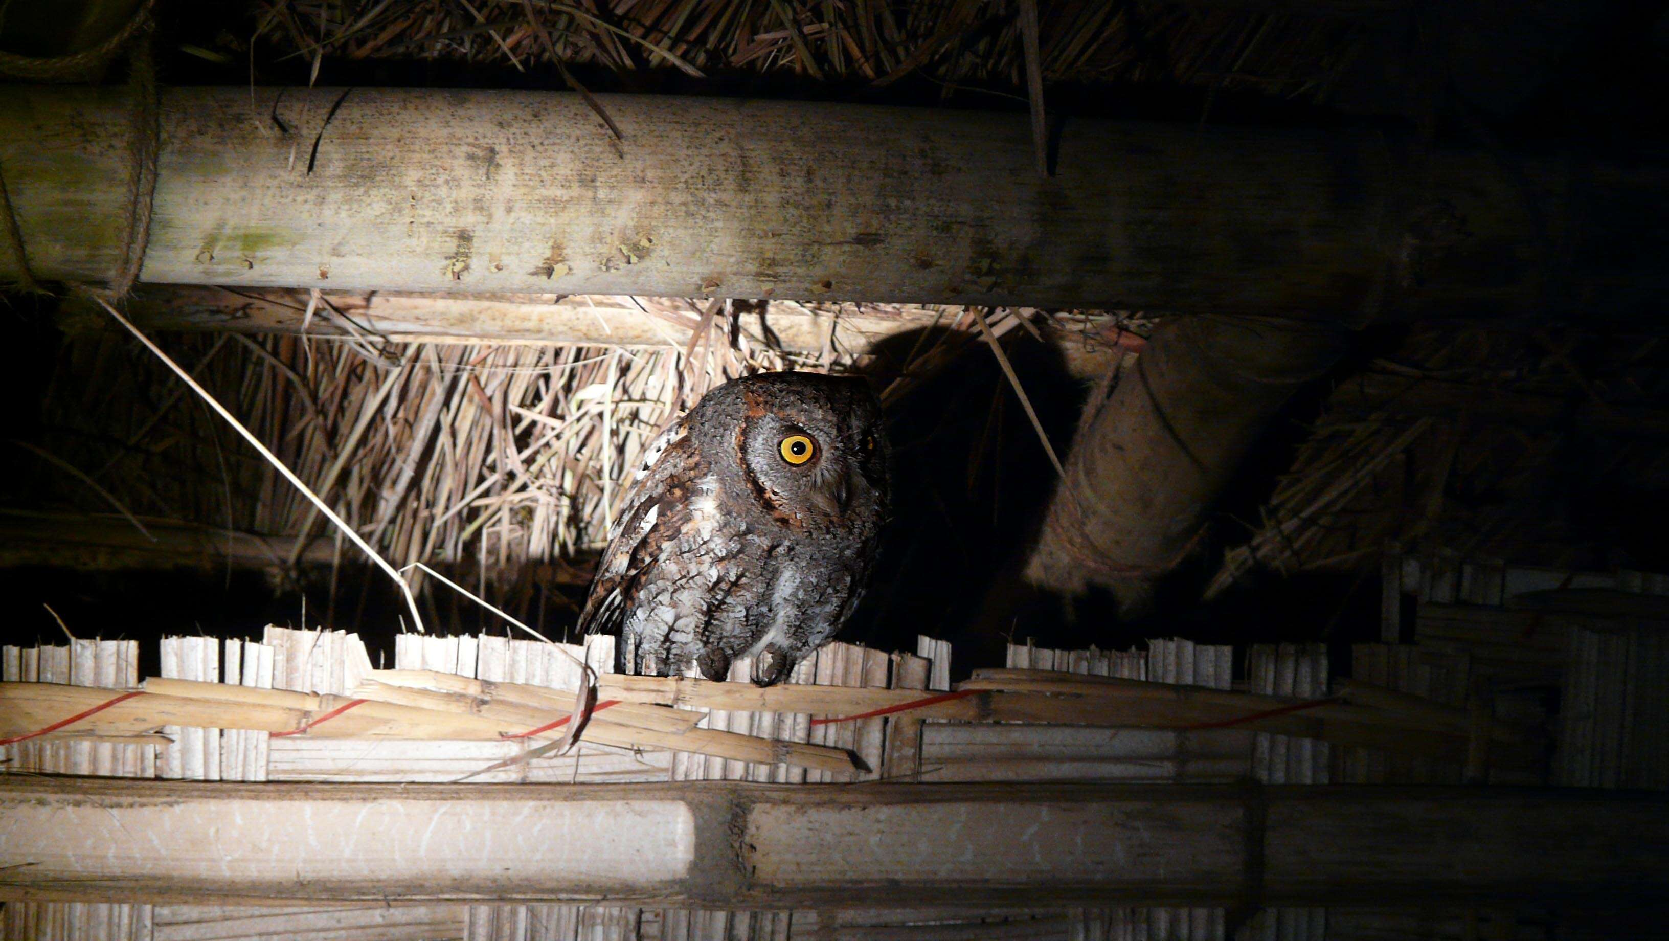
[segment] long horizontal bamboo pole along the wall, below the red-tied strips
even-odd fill
[[[1669,893],[1666,811],[1485,788],[0,779],[0,898],[1627,906]]]

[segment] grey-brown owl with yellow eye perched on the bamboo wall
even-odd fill
[[[861,379],[768,372],[708,392],[644,450],[579,626],[621,669],[771,686],[851,616],[888,514]]]

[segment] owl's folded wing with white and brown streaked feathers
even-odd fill
[[[684,442],[684,422],[676,422],[649,447],[633,474],[636,486],[609,532],[609,546],[598,559],[586,609],[579,614],[581,634],[618,632],[638,596],[638,582],[689,521],[686,487],[696,454]]]

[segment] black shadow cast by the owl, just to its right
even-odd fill
[[[961,342],[943,329],[890,337],[866,372],[885,389],[913,352],[940,340]],[[1087,384],[1066,372],[1053,345],[1010,337],[1003,349],[1056,452],[1066,454]],[[886,424],[893,522],[870,592],[841,636],[913,651],[926,634],[951,641],[971,662],[975,649],[1000,649],[996,634],[1008,631],[1005,617],[990,624],[993,604],[1028,631],[1043,621],[1025,609],[1018,567],[1055,492],[1055,469],[985,344],[913,377],[910,392],[888,404]],[[988,656],[978,662],[991,666]]]

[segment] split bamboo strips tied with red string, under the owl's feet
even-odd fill
[[[881,664],[885,666],[885,657]],[[661,689],[653,689],[659,686]],[[684,692],[679,692],[679,689]],[[618,686],[613,689],[628,689]],[[855,752],[883,754],[883,742],[863,726],[838,721],[823,726],[826,744],[773,741],[751,734],[696,729],[699,716],[646,706],[679,701],[706,709],[829,714],[868,719],[876,711],[908,709],[916,719],[1018,721],[1112,727],[1205,729],[1245,727],[1370,746],[1432,757],[1464,756],[1474,722],[1465,709],[1407,702],[1389,691],[1349,686],[1344,697],[1325,701],[1258,696],[1178,684],[1155,684],[1053,671],[976,671],[955,696],[921,697],[911,689],[846,689],[781,686],[766,691],[739,682],[683,677],[638,677],[629,684],[638,704],[624,699],[598,709],[586,734],[624,747],[668,747],[733,761],[788,762],[824,772],[850,772],[861,764]],[[644,692],[649,689],[649,692]],[[474,681],[449,674],[376,671],[354,696],[314,696],[212,682],[150,679],[142,696],[118,702],[120,689],[58,684],[0,684],[8,709],[0,719],[7,736],[30,734],[67,716],[98,709],[78,721],[82,732],[139,734],[159,726],[259,729],[315,737],[504,739],[559,737],[552,729],[572,716],[569,692]],[[1535,732],[1500,721],[1489,724],[1497,761],[1519,766],[1540,761]],[[831,747],[833,746],[833,747]]]

